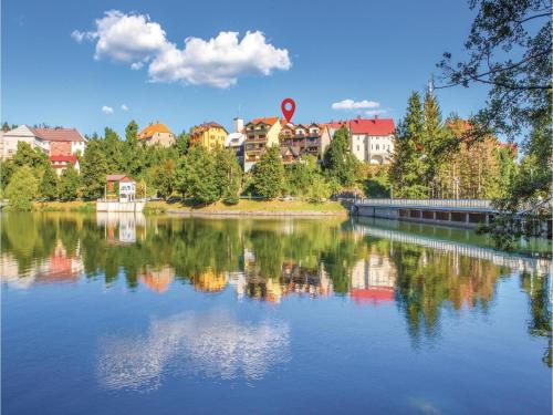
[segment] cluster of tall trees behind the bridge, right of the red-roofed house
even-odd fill
[[[517,147],[457,115],[446,121],[436,96],[414,92],[396,129],[389,180],[395,197],[493,199],[505,197],[518,166]]]

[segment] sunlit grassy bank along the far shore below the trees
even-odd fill
[[[95,201],[41,201],[33,204],[36,211],[95,211]],[[312,204],[301,200],[240,200],[237,205],[216,203],[198,206],[188,201],[167,203],[156,200],[146,203],[145,214],[182,212],[206,215],[346,215],[347,209],[338,201]]]

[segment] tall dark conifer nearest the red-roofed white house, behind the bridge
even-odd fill
[[[425,122],[420,97],[417,92],[413,92],[405,120],[399,122],[396,129],[392,157],[390,181],[396,197],[428,197],[427,164],[421,153],[424,135]]]

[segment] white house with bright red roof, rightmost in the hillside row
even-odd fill
[[[341,128],[349,131],[352,154],[359,160],[369,164],[389,164],[394,153],[394,132],[396,126],[392,118],[357,117],[348,121],[330,122],[326,124],[332,136]]]

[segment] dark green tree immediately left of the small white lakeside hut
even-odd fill
[[[101,198],[106,183],[107,162],[102,151],[102,139],[88,142],[81,159],[83,197],[87,200]]]

